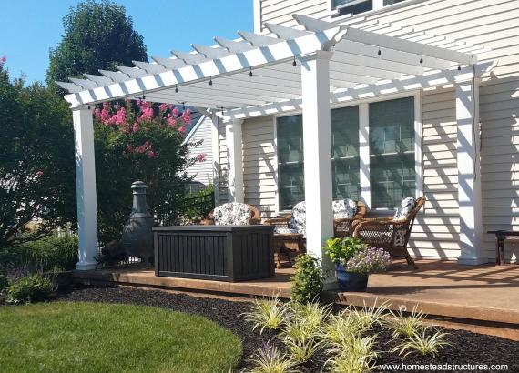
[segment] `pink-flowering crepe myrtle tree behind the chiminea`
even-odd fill
[[[205,155],[193,152],[201,142],[183,144],[189,109],[127,100],[105,103],[94,116],[99,239],[107,242],[120,237],[131,211],[132,182],[148,185],[151,212],[168,215],[185,195],[186,169]]]

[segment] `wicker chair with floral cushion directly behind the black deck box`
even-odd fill
[[[218,215],[215,221],[215,213]],[[241,218],[245,217],[245,218]],[[231,226],[260,224],[261,215],[258,208],[241,202],[229,202],[209,212],[208,217],[201,221],[203,226],[229,224]]]

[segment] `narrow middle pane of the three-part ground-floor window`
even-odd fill
[[[359,106],[331,110],[333,199],[360,199],[359,173]]]

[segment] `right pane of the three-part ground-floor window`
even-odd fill
[[[394,208],[414,196],[414,99],[370,104],[371,208]]]

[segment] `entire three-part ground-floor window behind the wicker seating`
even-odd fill
[[[362,190],[370,192],[371,208],[392,209],[416,194],[414,97],[362,105],[366,110],[331,110],[333,199],[362,199],[360,123],[369,123],[369,158],[363,153],[363,163],[370,165],[370,177]],[[276,128],[279,208],[290,210],[305,198],[302,116],[279,117]]]

